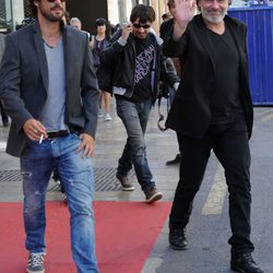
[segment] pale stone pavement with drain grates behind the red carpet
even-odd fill
[[[96,133],[96,149],[94,156],[94,169],[96,174],[96,200],[120,200],[120,201],[144,201],[144,194],[140,189],[134,173],[131,173],[135,186],[133,192],[120,190],[116,179],[116,168],[126,143],[126,131],[121,120],[116,115],[115,100],[111,104],[111,121],[98,119]],[[163,106],[164,109],[164,106]],[[165,201],[173,199],[174,190],[178,179],[178,166],[166,167],[165,162],[175,157],[178,153],[175,132],[168,130],[161,132],[157,128],[157,108],[151,112],[146,130],[146,152],[150,167],[158,190],[164,193]],[[11,178],[1,182],[0,201],[22,200],[21,183],[19,182],[19,159],[4,153],[7,128],[0,127],[0,171],[11,170]],[[5,174],[7,175],[7,174]],[[3,180],[0,178],[0,180]],[[12,182],[11,182],[12,181]],[[50,190],[55,182],[49,185],[48,200],[59,200],[59,192]],[[4,190],[3,190],[4,189]]]

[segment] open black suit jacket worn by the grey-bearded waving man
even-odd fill
[[[249,90],[247,27],[242,22],[227,15],[224,20],[239,55],[239,96],[250,138],[253,107]],[[215,87],[216,73],[209,29],[199,14],[188,24],[186,33],[178,41],[173,40],[171,29],[168,33],[163,51],[168,57],[179,57],[183,66],[181,83],[169,110],[166,127],[201,139],[211,122],[210,96]]]

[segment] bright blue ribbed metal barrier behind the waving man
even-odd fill
[[[228,15],[248,25],[250,88],[254,105],[273,105],[273,7],[232,8]]]

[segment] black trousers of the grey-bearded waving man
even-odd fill
[[[170,227],[183,228],[189,222],[192,203],[200,189],[206,164],[213,150],[225,169],[229,193],[232,256],[252,252],[250,241],[250,151],[245,119],[211,124],[202,139],[179,134],[182,149],[180,177],[169,216]]]

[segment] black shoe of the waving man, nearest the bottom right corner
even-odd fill
[[[244,253],[237,259],[232,259],[230,269],[240,273],[263,273],[253,261],[251,253]]]

